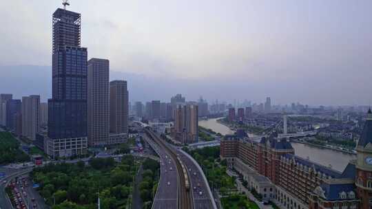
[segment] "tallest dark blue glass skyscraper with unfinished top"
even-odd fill
[[[46,152],[52,157],[82,155],[87,151],[87,48],[81,47],[81,14],[57,9],[52,30]]]

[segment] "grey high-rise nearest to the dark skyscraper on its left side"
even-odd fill
[[[40,129],[40,96],[22,97],[22,135],[30,140],[36,140]]]

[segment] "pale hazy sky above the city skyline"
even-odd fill
[[[372,98],[371,0],[70,3],[69,10],[82,14],[89,57],[109,58],[114,71],[189,86],[169,87],[190,91],[174,94],[271,96],[276,104],[369,104]],[[2,1],[0,65],[50,66],[52,12],[61,6],[59,0]]]

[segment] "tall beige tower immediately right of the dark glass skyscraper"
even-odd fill
[[[90,146],[109,144],[110,62],[91,58],[87,63],[87,138]]]

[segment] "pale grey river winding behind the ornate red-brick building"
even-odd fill
[[[216,131],[217,133],[221,133],[223,135],[233,133],[233,131],[231,131],[229,127],[218,123],[218,119],[219,118],[200,120],[199,125],[203,126],[206,129],[212,129],[213,131]],[[305,159],[309,157],[312,162],[316,162],[324,166],[331,165],[334,170],[338,170],[340,172],[344,170],[351,159],[356,159],[356,155],[333,151],[328,148],[320,148],[317,146],[294,142],[291,144],[295,150],[296,155]]]

